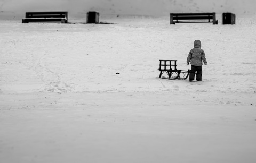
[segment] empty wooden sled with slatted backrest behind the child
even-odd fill
[[[159,78],[163,75],[164,72],[167,73],[167,79],[187,79],[190,70],[177,70],[177,60],[159,60],[159,71],[160,75]],[[183,74],[183,76],[181,76]]]

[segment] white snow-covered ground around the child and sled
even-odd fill
[[[255,162],[256,16],[217,19],[1,20],[0,162]],[[196,39],[203,81],[159,79]]]

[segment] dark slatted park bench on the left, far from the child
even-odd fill
[[[22,23],[28,22],[68,22],[68,12],[53,11],[53,12],[26,12],[25,19]]]

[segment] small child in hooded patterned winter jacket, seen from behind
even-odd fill
[[[187,65],[189,65],[189,62],[191,64],[191,70],[189,74],[190,82],[195,79],[195,75],[197,81],[202,81],[202,61],[205,65],[207,65],[204,50],[201,49],[201,41],[195,40],[194,48],[190,50],[187,58]]]

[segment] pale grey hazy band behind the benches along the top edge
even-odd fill
[[[0,11],[99,11],[101,14],[166,15],[170,12],[255,13],[255,0],[0,0]],[[1,14],[1,13],[0,13]]]

